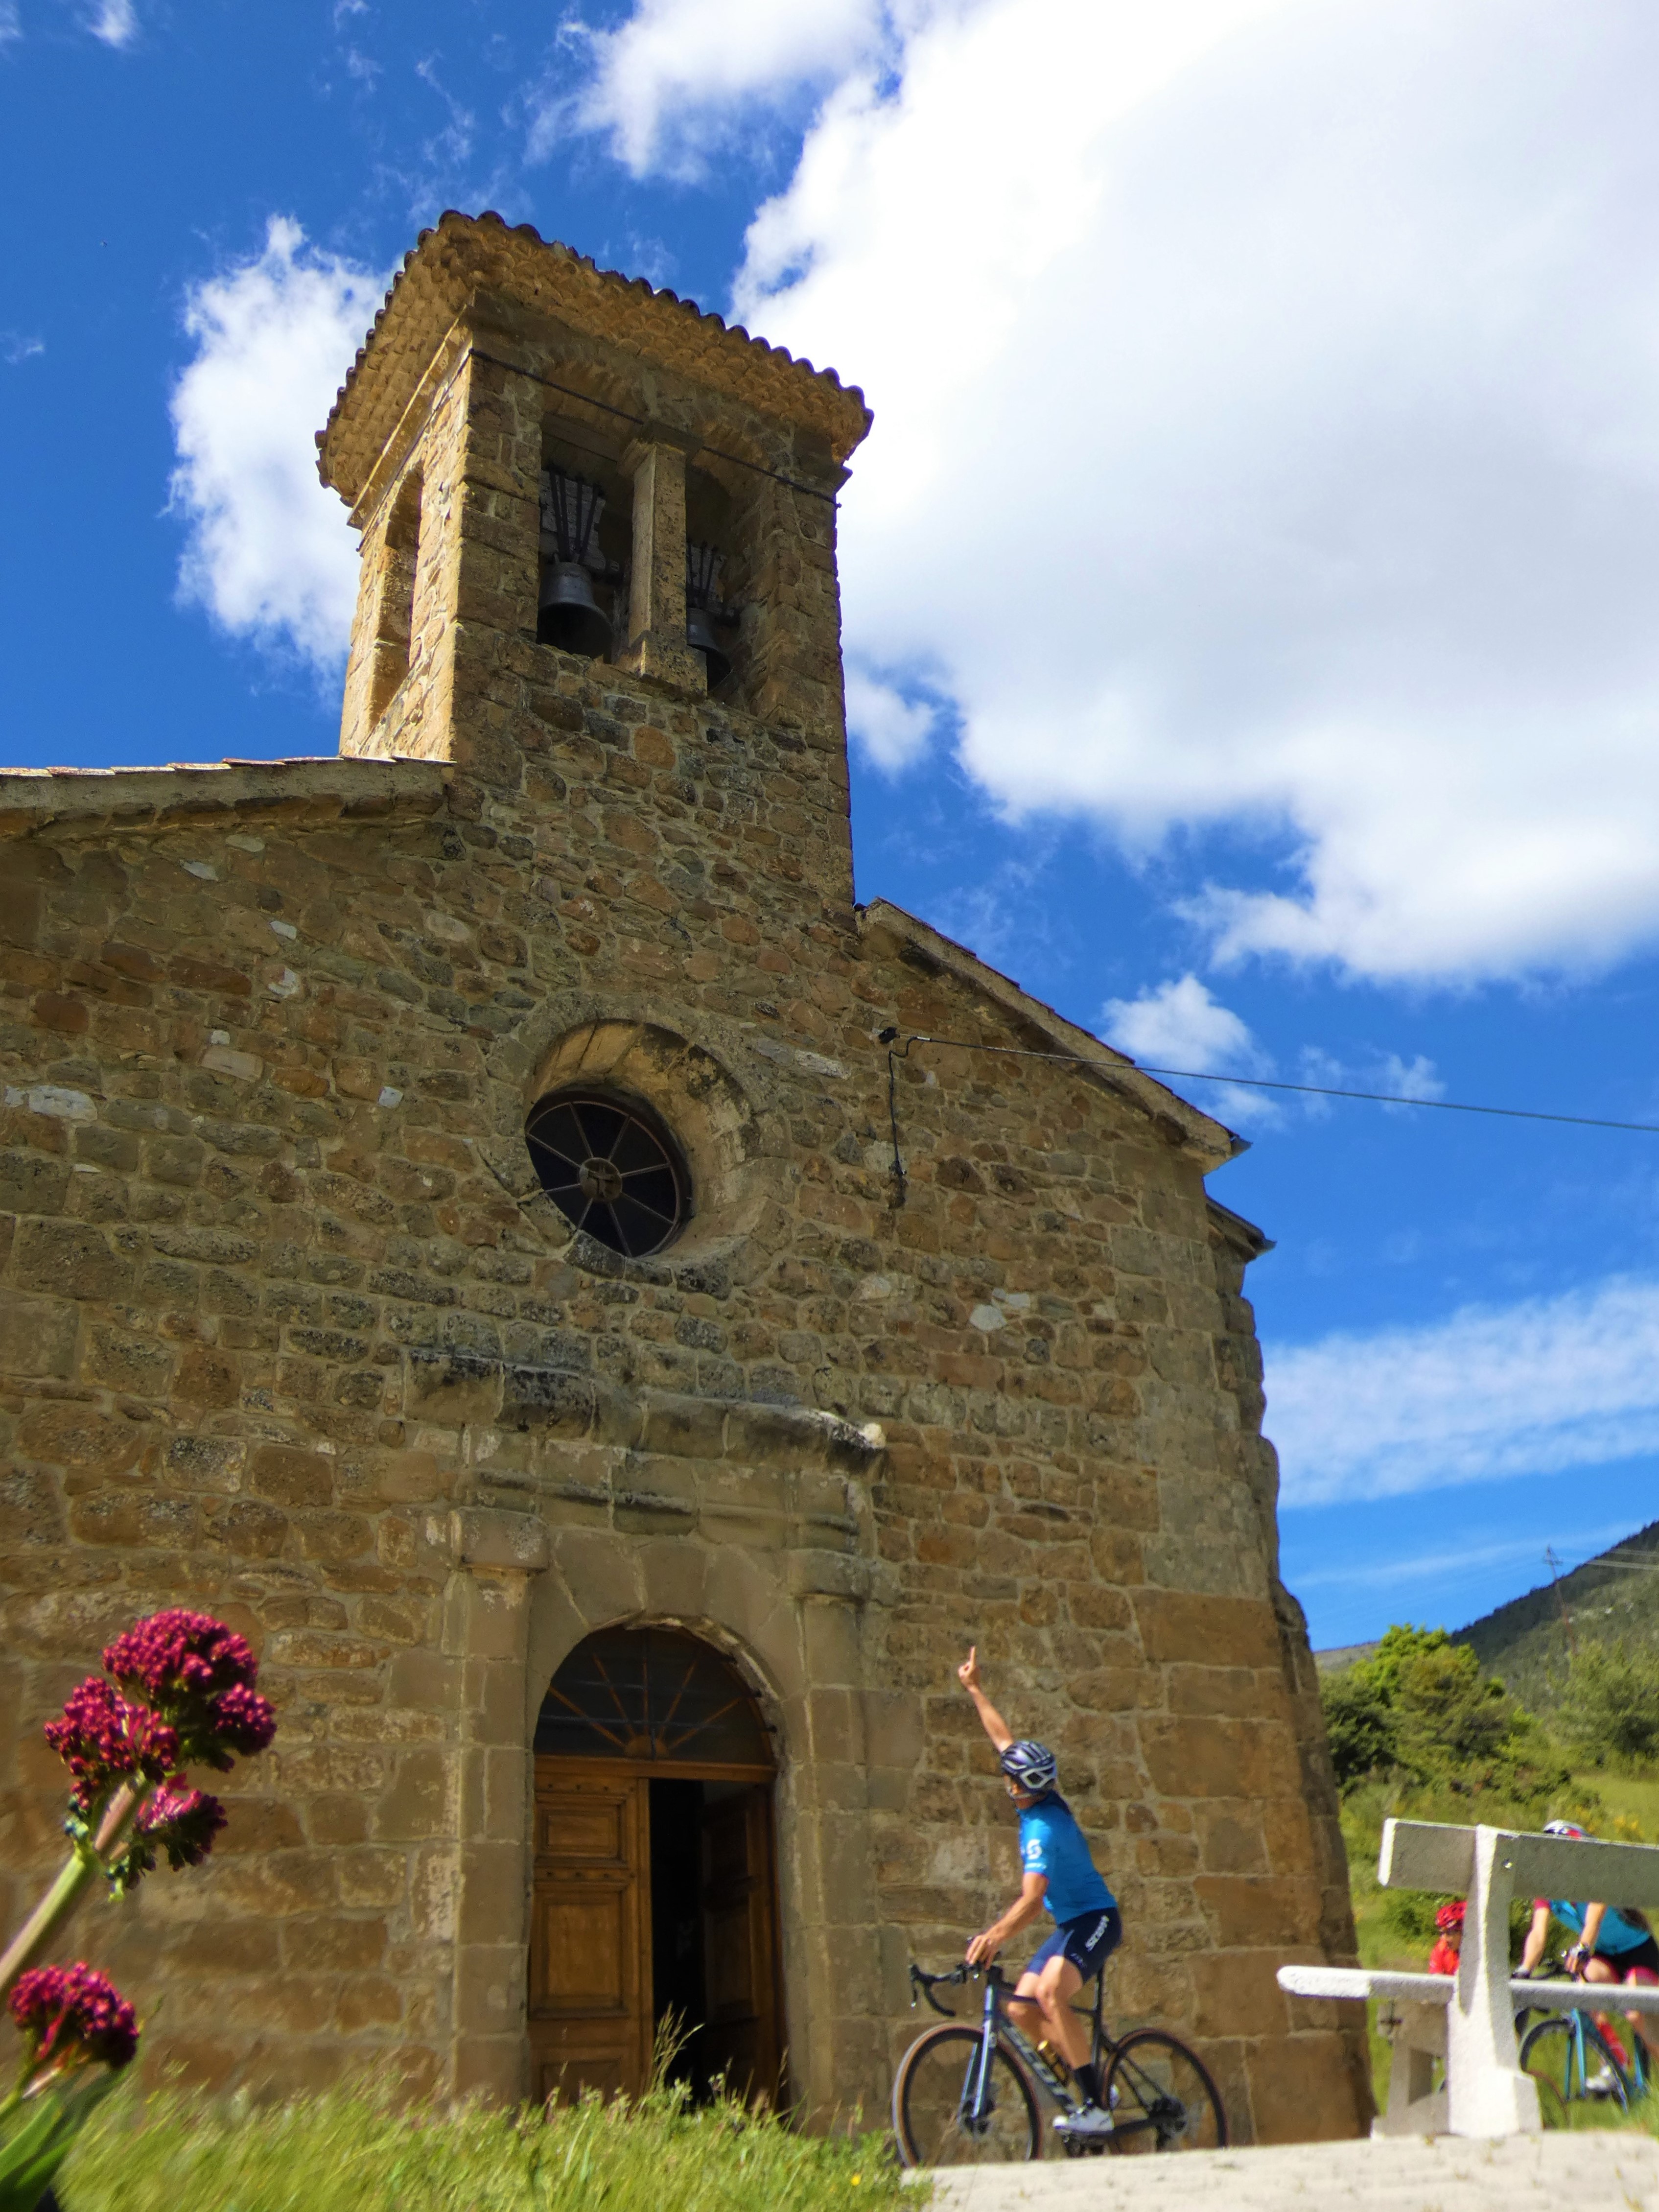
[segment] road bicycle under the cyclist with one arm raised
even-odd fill
[[[984,1982],[980,2024],[958,2020],[936,1989]],[[916,1993],[942,2013],[947,2026],[922,2028],[894,2079],[894,2135],[905,2166],[998,2166],[1042,2157],[1042,2090],[1060,2112],[1082,2112],[1084,2097],[1057,2051],[1033,2042],[1011,2017],[1011,1982],[1000,1966],[953,1966],[925,1973],[911,1966]],[[1104,1980],[1095,1975],[1093,2006],[1075,2006],[1091,2022],[1091,2053],[1099,2068],[1113,2132],[1068,2141],[1066,2157],[1113,2152],[1133,2157],[1159,2150],[1221,2150],[1228,2115],[1203,2062],[1161,2028],[1135,2028],[1121,2039],[1102,2020]],[[1037,2015],[1040,2017],[1040,2015]]]

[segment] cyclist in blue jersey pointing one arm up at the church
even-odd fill
[[[1102,2106],[1099,2070],[1088,2055],[1088,2037],[1071,2000],[1091,1975],[1099,1973],[1121,1940],[1117,1900],[1099,1878],[1084,1832],[1060,1796],[1055,1754],[1046,1743],[1015,1741],[980,1688],[978,1648],[969,1650],[956,1672],[995,1745],[1006,1792],[1020,1807],[1020,1896],[967,1947],[969,1964],[982,1966],[993,1960],[1004,1942],[1035,1920],[1044,1905],[1048,1907],[1055,1931],[1033,1953],[1013,2000],[1037,2006],[1048,2039],[1084,2093],[1082,2110],[1057,2119],[1055,2132],[1073,2141],[1110,2135],[1113,2117]]]

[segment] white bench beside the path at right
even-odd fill
[[[1655,1845],[1387,1820],[1376,1878],[1385,1889],[1431,1889],[1469,1900],[1455,1975],[1279,1969],[1279,1986],[1292,1997],[1383,1997],[1398,2006],[1389,2104],[1374,2135],[1537,2135],[1537,2086],[1520,2070],[1515,2006],[1659,2013],[1659,1989],[1524,1982],[1509,1971],[1511,1898],[1659,1907]],[[1444,2062],[1438,2090],[1436,2059]]]

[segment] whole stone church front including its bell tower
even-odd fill
[[[978,1641],[1115,2017],[1245,2139],[1365,2124],[1274,1984],[1354,1933],[1237,1139],[854,902],[867,427],[447,215],[319,440],[338,759],[0,776],[4,1905],[97,1646],[248,1632],[223,1849],[82,1929],[197,2079],[626,2088],[679,1942],[710,2051],[880,2115],[909,1960],[1013,1882]]]

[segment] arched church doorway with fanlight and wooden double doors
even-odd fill
[[[529,2033],[540,2097],[675,2075],[781,2095],[772,1743],[732,1663],[679,1628],[602,1628],[535,1725]]]

